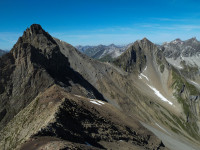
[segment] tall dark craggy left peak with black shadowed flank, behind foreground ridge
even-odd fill
[[[27,29],[11,52],[0,58],[0,62],[0,128],[39,92],[55,83],[66,88],[79,84],[89,91],[88,96],[103,98],[70,68],[68,59],[60,52],[54,39],[39,25]]]

